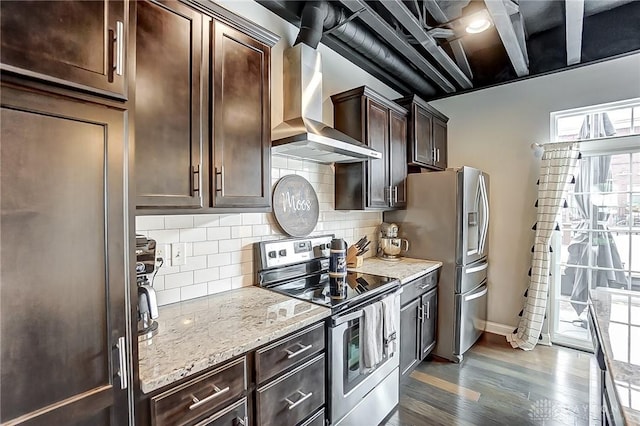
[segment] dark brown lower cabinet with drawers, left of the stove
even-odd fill
[[[324,426],[325,324],[152,394],[141,425]],[[142,405],[147,404],[145,402]]]

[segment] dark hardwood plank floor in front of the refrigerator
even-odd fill
[[[485,333],[460,364],[422,362],[400,386],[398,409],[383,424],[596,424],[592,358],[560,346],[516,350],[504,336]]]

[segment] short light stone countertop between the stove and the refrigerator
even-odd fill
[[[349,268],[350,271],[363,272],[365,274],[384,275],[397,278],[401,284],[415,280],[442,266],[442,262],[435,260],[412,259],[401,257],[400,260],[383,260],[379,257],[369,257],[359,268]]]

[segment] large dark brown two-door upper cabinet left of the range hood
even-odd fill
[[[192,6],[137,4],[138,211],[265,211],[276,39],[234,28],[215,5]]]

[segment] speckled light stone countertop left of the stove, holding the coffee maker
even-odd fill
[[[138,344],[149,393],[328,317],[331,310],[259,287],[160,307],[156,336]]]

